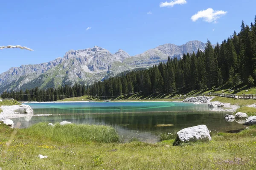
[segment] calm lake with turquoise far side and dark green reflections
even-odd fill
[[[144,142],[159,141],[162,132],[175,132],[195,125],[207,125],[209,130],[226,132],[244,128],[237,122],[226,122],[227,113],[212,111],[206,104],[193,105],[183,102],[77,102],[77,103],[29,103],[34,114],[15,118],[21,127],[38,122],[57,123],[63,120],[76,124],[111,125],[126,140],[137,136]],[[215,108],[216,109],[216,108]],[[173,124],[172,127],[156,127]]]

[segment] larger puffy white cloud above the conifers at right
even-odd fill
[[[227,11],[214,11],[212,8],[208,8],[207,10],[198,11],[198,13],[191,17],[191,20],[195,22],[203,18],[205,22],[216,23],[216,21],[225,14],[227,14]]]

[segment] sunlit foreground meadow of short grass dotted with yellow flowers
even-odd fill
[[[41,124],[42,125],[42,124]],[[37,125],[39,128],[41,125]],[[0,154],[13,129],[0,125]],[[44,131],[41,130],[41,131]],[[143,142],[55,142],[38,138],[38,130],[20,129],[0,163],[5,169],[27,170],[253,170],[256,169],[256,128],[240,133],[215,133],[211,142],[172,146],[173,139]],[[68,130],[65,130],[69,133]],[[69,133],[74,138],[76,135]],[[43,132],[39,136],[42,136]],[[58,137],[57,137],[58,138]],[[78,139],[75,139],[78,140]],[[38,155],[48,156],[39,159]]]

